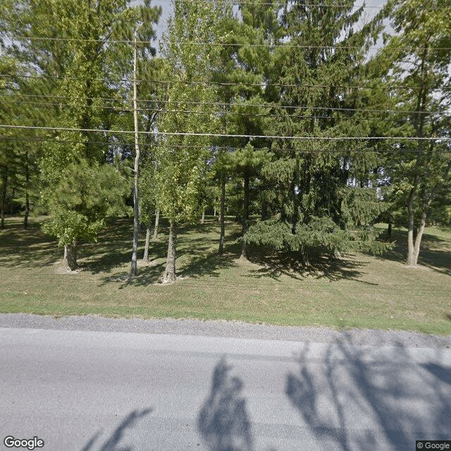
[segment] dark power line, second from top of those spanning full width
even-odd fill
[[[70,81],[99,81],[104,83],[109,82],[128,82],[131,83],[133,81],[136,82],[144,82],[144,83],[156,83],[161,85],[171,85],[171,84],[185,84],[185,85],[213,85],[213,86],[250,86],[250,87],[266,87],[266,86],[274,86],[274,87],[308,87],[314,89],[322,89],[322,88],[341,88],[341,89],[423,89],[422,87],[408,87],[408,86],[358,86],[358,85],[305,85],[302,83],[295,85],[283,85],[281,83],[271,83],[270,81],[265,81],[261,83],[249,83],[249,82],[212,82],[208,80],[200,80],[200,81],[191,81],[191,80],[128,80],[125,78],[80,78],[80,77],[55,77],[55,76],[44,76],[44,75],[4,75],[0,74],[0,78],[34,78],[38,80],[70,80]],[[441,89],[448,90],[451,87],[436,87],[431,89]]]

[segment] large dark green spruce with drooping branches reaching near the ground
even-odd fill
[[[371,231],[384,208],[371,183],[376,156],[365,139],[342,140],[371,135],[367,121],[352,118],[366,51],[380,30],[377,18],[354,32],[363,11],[354,1],[337,8],[331,0],[299,0],[277,14],[265,92],[273,119],[265,132],[299,139],[271,140],[274,157],[262,169],[270,218],[251,226],[246,240],[284,249],[304,264],[311,252],[380,248]]]

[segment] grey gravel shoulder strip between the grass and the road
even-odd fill
[[[0,314],[1,328],[34,328],[56,330],[90,330],[206,337],[257,338],[294,342],[335,342],[343,336],[354,345],[404,347],[451,347],[451,335],[428,335],[406,330],[344,329],[323,327],[285,327],[249,324],[240,321],[199,321],[196,319],[123,319],[103,316],[40,316],[34,314]]]

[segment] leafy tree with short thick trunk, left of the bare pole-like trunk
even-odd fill
[[[117,122],[116,109],[105,108],[104,98],[118,101],[130,98],[130,87],[122,80],[130,75],[130,51],[127,58],[124,55],[131,49],[127,40],[130,41],[130,31],[135,25],[131,19],[137,16],[136,11],[141,13],[138,16],[152,19],[144,28],[148,31],[150,27],[154,36],[152,24],[159,9],[149,8],[149,1],[134,8],[128,7],[128,3],[123,0],[23,0],[12,2],[11,13],[8,13],[7,29],[14,44],[11,54],[43,80],[43,93],[53,100],[64,99],[54,101],[54,114],[42,118],[42,125],[53,126],[55,131],[49,133],[51,140],[44,146],[39,166],[43,188],[41,202],[55,215],[46,230],[67,246],[65,254],[70,257],[71,268],[76,266],[73,256],[77,254],[78,240],[94,237],[104,219],[99,215],[107,214],[107,207],[113,204],[109,196],[96,192],[89,180],[94,177],[93,171],[98,171],[99,186],[103,183],[101,178],[108,173],[111,183],[116,182],[118,187],[113,192],[122,192],[121,172],[109,166],[113,163],[111,149],[117,148],[117,142],[112,134],[92,130],[108,131]],[[85,185],[74,179],[82,170],[87,171]],[[70,192],[63,189],[67,186],[81,190],[78,198],[84,199],[86,207],[75,202]],[[86,187],[91,188],[90,193]],[[54,197],[54,191],[60,188],[68,199]],[[99,197],[105,202],[105,208],[99,206]],[[122,197],[119,195],[117,201],[121,202]],[[55,204],[55,199],[59,205]]]

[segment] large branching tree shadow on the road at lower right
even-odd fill
[[[307,345],[299,373],[287,377],[285,394],[317,439],[337,451],[410,451],[415,440],[449,440],[451,369],[418,364],[402,345],[381,355],[350,344],[345,334],[328,347],[323,373]]]

